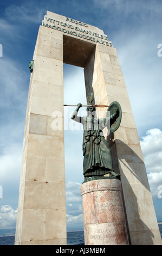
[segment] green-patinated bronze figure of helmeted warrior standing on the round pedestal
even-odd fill
[[[88,95],[87,105],[92,105],[93,94]],[[77,104],[72,119],[83,125],[83,175],[85,181],[94,179],[119,179],[120,175],[114,172],[111,150],[103,136],[103,128],[108,121],[115,124],[120,117],[119,107],[111,107],[111,115],[106,118],[95,117],[95,107],[87,107],[87,117],[78,117],[77,113],[82,106]],[[118,126],[119,127],[119,126]],[[118,128],[116,128],[117,130]],[[109,173],[109,176],[104,176]]]

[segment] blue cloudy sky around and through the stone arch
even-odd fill
[[[47,10],[103,29],[116,48],[157,220],[162,221],[162,1],[7,0],[0,2],[0,229],[16,227],[28,65]],[[64,104],[86,104],[83,69],[64,64],[63,75]],[[65,109],[66,117],[73,110]],[[68,230],[83,230],[82,134],[64,131]]]

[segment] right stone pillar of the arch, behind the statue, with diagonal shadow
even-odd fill
[[[110,105],[118,101],[121,105],[119,129],[109,134],[105,128],[103,134],[111,149],[115,172],[121,175],[131,244],[161,245],[137,127],[116,49],[97,44],[84,71],[86,93],[94,94],[95,104]],[[104,117],[99,111],[107,109],[97,108],[96,111],[99,118]]]

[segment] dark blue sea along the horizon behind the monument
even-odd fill
[[[162,222],[159,224],[162,239]],[[0,236],[0,245],[14,245],[15,235]],[[85,245],[84,231],[67,232],[67,245]]]

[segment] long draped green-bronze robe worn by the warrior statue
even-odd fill
[[[111,151],[103,137],[106,118],[82,117],[83,174],[85,177],[105,175],[114,170]]]

